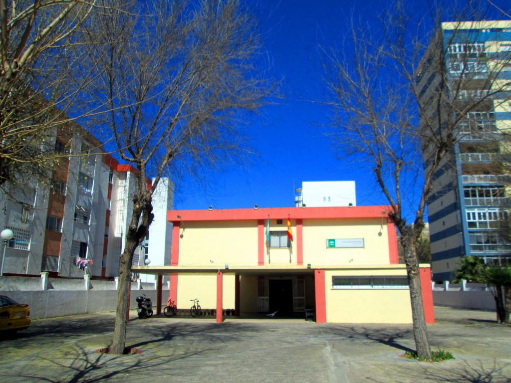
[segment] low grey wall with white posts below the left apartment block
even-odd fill
[[[117,307],[117,278],[115,280],[78,278],[0,277],[0,295],[30,305],[32,319],[62,317],[78,314],[115,311]],[[156,283],[131,282],[130,308],[136,308],[136,297],[145,294],[156,305]],[[162,304],[169,296],[164,283]]]

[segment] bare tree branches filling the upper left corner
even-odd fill
[[[79,29],[97,0],[0,0],[0,188],[49,178],[55,137],[72,131],[66,114],[88,82],[80,67]],[[90,68],[89,68],[90,69]]]

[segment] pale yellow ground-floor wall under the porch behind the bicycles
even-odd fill
[[[177,277],[177,308],[188,309],[198,298],[203,310],[217,308],[217,275],[179,274]],[[223,308],[235,308],[235,275],[223,275]]]

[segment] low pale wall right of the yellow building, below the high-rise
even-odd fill
[[[481,283],[432,283],[433,303],[439,306],[495,310],[495,298]]]

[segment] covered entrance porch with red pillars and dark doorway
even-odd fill
[[[309,318],[314,313],[316,322],[326,322],[324,270],[225,266],[220,270],[144,266],[134,267],[133,271],[158,276],[157,314],[168,300],[175,302],[178,309],[189,309],[189,300],[198,298],[203,311],[215,311],[217,322],[223,322],[224,310],[233,306],[236,317],[305,319],[307,310]],[[170,275],[168,298],[162,297],[164,275]]]

